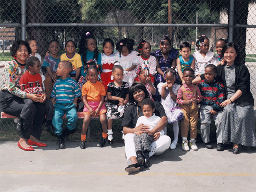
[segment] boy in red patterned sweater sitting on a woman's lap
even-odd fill
[[[42,78],[40,75],[41,63],[37,57],[29,57],[26,61],[26,68],[28,69],[20,78],[20,89],[24,92],[30,94],[37,94],[40,96],[41,101],[46,107],[46,126],[49,131],[54,133],[54,128],[52,126],[52,116],[53,116],[53,105],[50,100],[46,98],[45,91],[42,86]],[[45,99],[45,102],[43,101]],[[33,101],[31,99],[24,99],[25,105],[22,108],[21,116],[28,111],[28,108],[32,107]],[[17,122],[17,129],[20,131],[22,127],[22,118],[19,118]]]

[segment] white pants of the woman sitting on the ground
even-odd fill
[[[137,157],[135,146],[134,146],[134,133],[127,133],[124,138],[125,153],[127,164],[131,164],[130,157]],[[167,135],[162,135],[158,140],[153,141],[150,144],[149,157],[152,155],[160,155],[170,147],[171,138]]]

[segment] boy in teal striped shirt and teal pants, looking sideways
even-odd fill
[[[69,61],[59,62],[57,68],[57,79],[52,89],[52,104],[54,105],[54,117],[52,124],[55,127],[55,133],[58,136],[59,149],[65,146],[65,134],[62,133],[63,128],[62,117],[67,116],[67,135],[74,133],[78,115],[76,113],[76,106],[78,97],[81,96],[81,91],[76,80],[70,78],[69,73],[72,71],[72,64]]]

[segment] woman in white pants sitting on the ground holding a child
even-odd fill
[[[152,130],[148,130],[150,127],[140,124],[136,126],[137,120],[140,116],[143,116],[143,111],[141,110],[141,103],[145,98],[149,98],[148,91],[144,85],[141,83],[134,83],[129,89],[129,102],[130,105],[127,107],[124,118],[122,120],[123,132],[125,135],[125,153],[127,158],[127,163],[130,164],[125,170],[129,173],[136,171],[141,171],[144,169],[143,165],[138,163],[137,154],[134,146],[134,133],[137,131],[143,131],[148,133],[148,135],[153,136],[153,142],[150,145],[151,151],[149,156],[160,155],[165,150],[167,150],[171,144],[171,138],[166,135],[166,125],[167,117],[165,110],[160,102],[154,102],[156,116],[159,116],[159,120],[156,127]],[[165,135],[160,135],[161,130],[164,130]]]

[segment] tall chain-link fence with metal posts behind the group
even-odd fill
[[[136,43],[145,39],[153,51],[162,35],[169,35],[173,47],[184,41],[192,44],[204,34],[215,51],[220,38],[239,45],[242,62],[249,68],[251,91],[256,96],[256,4],[254,0],[0,0],[0,66],[12,59],[10,47],[17,39],[37,39],[43,58],[51,39],[58,39],[61,50],[67,40],[79,44],[83,31],[102,41],[126,37]],[[77,49],[77,51],[79,48]],[[216,53],[216,51],[215,51]],[[0,68],[2,75],[3,68]],[[2,78],[0,85],[3,85]],[[14,127],[13,121],[11,121]],[[0,122],[1,129],[5,126]],[[82,123],[78,125],[82,127]]]

